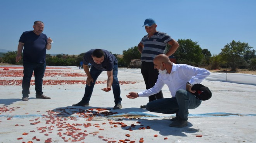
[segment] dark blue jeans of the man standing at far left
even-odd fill
[[[23,78],[22,78],[22,96],[28,97],[30,94],[29,87],[31,77],[34,72],[35,76],[35,90],[36,95],[43,94],[42,86],[43,86],[43,76],[45,75],[45,63],[31,63],[28,61],[23,61]]]

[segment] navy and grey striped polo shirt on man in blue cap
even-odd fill
[[[148,34],[142,38],[140,43],[144,45],[141,61],[153,62],[155,56],[164,54],[166,44],[173,38],[166,33],[157,31],[150,38]]]

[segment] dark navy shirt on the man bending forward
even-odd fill
[[[104,52],[104,61],[101,64],[97,64],[92,59],[92,53],[95,49],[91,49],[90,51],[86,52],[83,56],[83,64],[88,65],[89,63],[92,64],[95,68],[102,71],[111,71],[114,68],[114,65],[118,64],[118,60],[116,57],[111,54],[109,51],[102,49]]]

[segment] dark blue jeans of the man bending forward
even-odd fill
[[[98,70],[97,68],[95,68],[94,66],[91,67],[90,70],[90,74],[93,78],[93,83],[91,83],[90,86],[88,86],[87,84],[85,85],[85,94],[83,95],[83,99],[81,102],[83,103],[89,103],[91,97],[92,97],[92,92],[93,92],[93,87],[95,85],[95,82],[97,80],[97,78],[99,77],[100,73],[102,73],[102,70]],[[112,83],[112,90],[113,90],[113,94],[114,94],[114,102],[115,104],[121,104],[122,98],[120,96],[121,94],[121,90],[120,90],[120,86],[119,86],[119,81],[118,81],[118,65],[114,65],[113,68],[113,83]]]

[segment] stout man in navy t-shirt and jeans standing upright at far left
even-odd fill
[[[30,80],[35,75],[35,90],[36,98],[39,99],[51,99],[43,95],[42,85],[43,76],[45,74],[45,55],[46,49],[52,48],[52,39],[43,34],[44,24],[42,21],[35,21],[33,25],[33,31],[25,31],[22,33],[19,39],[18,51],[16,56],[16,62],[21,60],[23,49],[23,78],[22,78],[22,100],[28,101]]]

